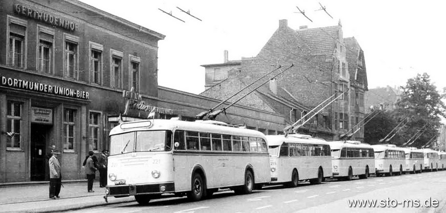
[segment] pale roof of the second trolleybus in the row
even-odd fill
[[[329,144],[325,140],[313,138],[310,135],[289,134],[287,137],[285,135],[267,135],[265,137],[268,140],[269,146],[277,146],[283,142]]]

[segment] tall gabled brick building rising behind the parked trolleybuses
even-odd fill
[[[233,69],[234,72],[238,72],[234,78],[239,78],[239,81],[248,84],[273,70],[277,65],[286,68],[294,64],[293,68],[274,79],[273,87],[270,83],[270,86],[264,86],[257,91],[259,97],[263,98],[263,104],[251,104],[253,107],[268,105],[274,111],[284,115],[288,124],[334,95],[336,91],[347,91],[301,130],[303,133],[336,140],[339,135],[347,132],[352,124],[363,118],[363,95],[360,94],[367,91],[363,52],[357,42],[357,46],[352,45],[349,50],[346,45],[340,22],[337,26],[313,29],[302,26],[298,30],[293,30],[288,27],[287,20],[280,20],[278,29],[257,56],[242,58],[240,67]],[[356,51],[351,50],[352,48],[356,48]],[[362,61],[360,65],[359,61]],[[350,69],[350,65],[353,68]],[[218,68],[218,65],[214,64],[213,68]],[[353,70],[358,71],[351,73]],[[231,79],[231,75],[228,74],[228,76]],[[351,79],[355,80],[353,84]],[[207,76],[207,82],[213,82],[213,80],[208,79]],[[222,88],[233,88],[233,90],[238,88],[227,80],[218,82],[214,86],[207,83],[207,87],[209,89],[201,95],[214,98],[226,97],[229,94],[219,92]],[[270,92],[266,92],[267,90]],[[351,95],[356,92],[358,92],[357,96]],[[276,99],[281,97],[292,100],[299,103],[300,107],[277,109],[274,107],[277,103],[265,98],[265,94],[270,94],[270,96],[274,94]],[[362,138],[363,131],[360,131],[353,139],[361,140]]]

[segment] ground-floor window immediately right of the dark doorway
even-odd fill
[[[76,110],[64,110],[64,150],[74,151]]]

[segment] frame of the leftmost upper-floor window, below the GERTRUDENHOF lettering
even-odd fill
[[[28,55],[28,22],[27,22],[27,20],[24,20],[24,19],[21,19],[21,18],[17,18],[17,17],[14,17],[14,16],[11,16],[11,15],[7,15],[7,24],[6,24],[6,36],[7,36],[7,38],[6,38],[6,54],[5,54],[5,58],[6,58],[6,64],[7,65],[9,65],[9,66],[12,66],[12,67],[16,67],[16,66],[14,66],[14,65],[11,65],[10,64],[10,60],[9,60],[9,57],[10,57],[10,54],[9,54],[9,52],[10,52],[10,48],[9,48],[9,46],[10,46],[10,42],[9,42],[9,39],[10,39],[10,37],[11,37],[11,31],[10,31],[10,25],[11,24],[14,24],[14,25],[19,25],[19,26],[22,26],[22,27],[24,27],[25,28],[25,32],[24,32],[24,34],[25,35],[23,35],[23,45],[22,45],[22,51],[23,51],[23,56],[22,56],[22,59],[21,59],[21,67],[16,67],[16,68],[19,68],[19,69],[27,69],[27,58],[28,57],[26,57],[27,55]]]

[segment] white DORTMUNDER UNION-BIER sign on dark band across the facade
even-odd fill
[[[84,100],[88,100],[89,98],[88,92],[85,91],[53,86],[45,83],[33,82],[28,80],[8,78],[5,76],[2,76],[2,82],[0,85],[9,88],[35,91],[35,92],[65,96],[70,98],[79,98]]]

